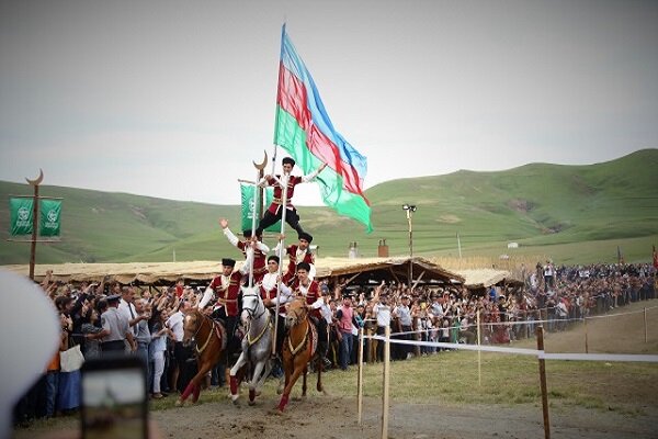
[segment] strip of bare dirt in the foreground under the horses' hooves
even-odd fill
[[[253,407],[235,407],[228,401],[152,414],[162,438],[379,438],[382,401],[364,402],[358,425],[355,398],[309,395],[293,401],[283,415],[272,408],[277,401]],[[617,413],[552,407],[552,438],[658,438],[658,415],[625,418]],[[541,438],[541,406],[445,407],[432,404],[393,404],[388,438]]]

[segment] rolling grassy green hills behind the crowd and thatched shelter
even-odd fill
[[[532,164],[499,172],[461,170],[393,180],[366,193],[375,232],[327,207],[300,207],[320,256],[363,256],[385,238],[392,255],[408,255],[404,203],[415,204],[413,252],[456,256],[546,255],[561,262],[649,260],[658,244],[658,149],[588,166]],[[64,198],[63,240],[38,245],[39,262],[169,261],[237,256],[217,218],[239,224],[239,206],[179,202],[44,185]],[[31,194],[27,184],[0,182],[0,195]],[[8,203],[0,204],[0,263],[26,263],[30,246],[7,241]],[[235,227],[234,227],[235,230]],[[271,246],[274,239],[265,239]],[[517,241],[520,248],[508,250]]]

